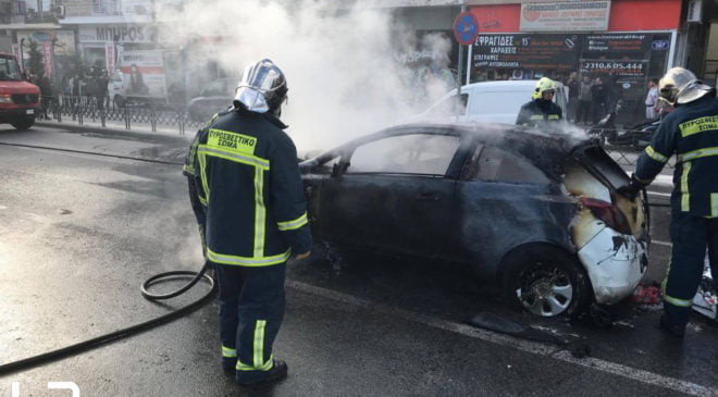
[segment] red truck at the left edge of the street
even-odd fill
[[[39,108],[40,88],[23,79],[15,55],[0,52],[0,123],[27,129]]]

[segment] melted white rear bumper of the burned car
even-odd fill
[[[616,303],[633,293],[648,263],[646,243],[603,227],[578,252],[598,303]]]

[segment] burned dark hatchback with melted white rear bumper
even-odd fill
[[[595,140],[503,124],[412,124],[300,163],[317,240],[460,262],[543,317],[629,296],[643,198]]]

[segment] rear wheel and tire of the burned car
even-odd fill
[[[506,265],[504,288],[512,307],[541,317],[574,317],[593,296],[579,260],[550,246],[529,246],[515,252]]]

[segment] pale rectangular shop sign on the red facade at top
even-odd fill
[[[521,4],[521,32],[608,30],[610,1]]]

